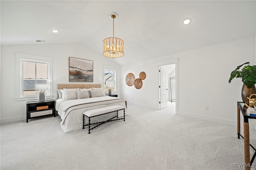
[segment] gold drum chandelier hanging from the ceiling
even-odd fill
[[[116,18],[116,15],[112,14],[111,18],[113,18],[113,37],[105,38],[103,40],[103,55],[106,57],[118,58],[124,56],[124,41],[114,37],[114,18]]]

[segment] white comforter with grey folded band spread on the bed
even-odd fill
[[[126,108],[126,101],[119,97],[109,96],[74,100],[58,99],[56,100],[55,108],[62,119],[60,123],[62,130],[71,132],[83,128],[83,113],[85,111],[112,105],[120,105]],[[122,114],[123,112],[118,112],[118,116],[122,116]],[[114,113],[95,117],[95,120],[92,120],[91,123],[109,119],[113,115]],[[86,118],[85,124],[88,124],[88,119]]]

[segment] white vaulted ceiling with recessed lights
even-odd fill
[[[124,57],[114,59],[120,65],[256,34],[256,1],[1,0],[0,5],[1,45],[84,43],[100,54],[102,40],[112,37],[109,15],[115,12],[114,34],[124,40]],[[185,18],[192,22],[182,24]]]

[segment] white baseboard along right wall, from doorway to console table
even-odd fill
[[[220,118],[216,118],[216,117],[197,115],[197,114],[186,113],[186,112],[181,112],[181,111],[178,112],[178,115],[193,117],[193,118],[196,118],[196,119],[202,119],[202,120],[206,120],[206,121],[213,121],[213,122],[216,122],[216,123],[223,123],[223,124],[232,125],[232,126],[237,126],[237,121],[230,121],[228,119],[220,119]],[[242,117],[242,115],[241,115],[241,117]],[[249,123],[250,123],[249,128],[255,130],[256,129],[255,123],[250,121],[250,120],[249,120]],[[240,125],[241,125],[241,128],[242,128],[243,127],[242,121],[241,121]]]

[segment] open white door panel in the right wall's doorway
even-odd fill
[[[166,69],[160,66],[160,109],[167,107]]]

